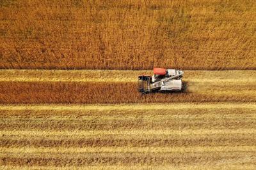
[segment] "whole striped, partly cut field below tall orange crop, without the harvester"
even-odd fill
[[[152,71],[1,70],[1,169],[253,169],[256,71],[184,73],[141,95]]]

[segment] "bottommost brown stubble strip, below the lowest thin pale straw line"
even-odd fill
[[[114,148],[115,149],[115,148]],[[237,155],[239,155],[237,157]],[[2,165],[13,166],[83,166],[83,165],[216,165],[223,160],[232,164],[255,162],[255,152],[192,152],[180,153],[6,153],[0,154]],[[250,157],[250,160],[242,159]],[[252,160],[251,160],[252,159]]]

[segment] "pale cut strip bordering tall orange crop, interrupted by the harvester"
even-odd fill
[[[137,82],[141,74],[152,75],[152,70],[28,70],[0,69],[0,81],[22,82]],[[186,70],[184,81],[224,81],[255,83],[256,71],[191,71]]]

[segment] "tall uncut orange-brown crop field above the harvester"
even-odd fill
[[[0,1],[0,68],[255,69],[256,3]]]

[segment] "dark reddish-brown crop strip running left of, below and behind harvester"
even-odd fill
[[[1,103],[164,103],[164,102],[189,102],[189,101],[232,101],[248,102],[255,101],[253,93],[238,93],[232,95],[232,90],[237,92],[247,85],[231,86],[211,85],[209,89],[207,84],[189,85],[186,92],[170,94],[148,94],[138,93],[136,83],[65,83],[65,82],[46,82],[46,83],[28,83],[28,82],[3,82],[0,81]],[[191,90],[191,87],[194,87]],[[235,89],[233,89],[235,88]],[[86,89],[86,90],[84,90]],[[226,92],[225,90],[231,90]],[[255,91],[256,86],[251,91]],[[189,92],[189,90],[191,92]],[[244,90],[246,91],[246,90]],[[76,93],[74,93],[76,92]],[[202,92],[207,92],[207,94]],[[218,92],[220,94],[211,94]],[[221,94],[222,93],[222,94]],[[100,96],[100,97],[99,97]],[[104,97],[102,97],[104,96]]]

